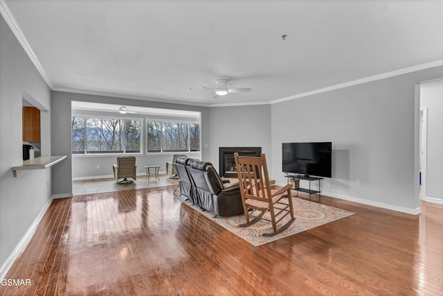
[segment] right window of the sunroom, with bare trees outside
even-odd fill
[[[147,121],[147,153],[200,151],[199,123]]]

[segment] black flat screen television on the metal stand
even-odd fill
[[[283,172],[332,177],[332,142],[283,143]]]

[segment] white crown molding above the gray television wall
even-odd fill
[[[294,100],[296,98],[303,98],[305,96],[312,96],[314,94],[321,94],[323,92],[330,92],[332,90],[336,90],[336,89],[342,89],[345,87],[351,87],[354,85],[361,85],[363,83],[367,83],[367,82],[372,82],[375,80],[381,80],[381,79],[385,79],[385,78],[390,78],[390,77],[394,77],[394,76],[399,76],[399,75],[403,75],[406,73],[411,73],[411,72],[415,72],[415,71],[420,71],[420,70],[424,70],[424,69],[430,69],[433,67],[439,67],[439,66],[443,66],[443,60],[436,60],[434,62],[428,62],[426,64],[419,64],[417,66],[413,66],[413,67],[408,67],[408,68],[404,68],[404,69],[399,69],[399,70],[395,70],[395,71],[390,71],[387,73],[381,73],[378,75],[374,75],[374,76],[370,76],[370,77],[366,77],[366,78],[361,78],[358,80],[352,80],[350,82],[345,82],[345,83],[341,83],[338,85],[332,85],[330,87],[324,87],[321,89],[316,89],[313,90],[311,92],[304,92],[302,94],[296,94],[293,96],[287,96],[286,98],[278,98],[277,100],[273,100],[271,101],[271,104],[275,104],[275,103],[282,103],[284,101],[291,101]]]

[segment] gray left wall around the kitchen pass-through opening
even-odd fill
[[[51,168],[19,171],[23,162],[21,107],[26,98],[42,110],[42,155],[50,154],[51,91],[0,17],[0,266],[51,200]]]

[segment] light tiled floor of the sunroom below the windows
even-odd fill
[[[72,182],[73,195],[103,193],[123,191],[129,189],[143,189],[159,186],[170,186],[179,184],[178,179],[170,179],[168,175],[159,175],[159,179],[150,176],[148,181],[145,176],[137,176],[137,180],[132,184],[117,184],[114,178],[107,179],[91,179],[91,180],[75,180]]]

